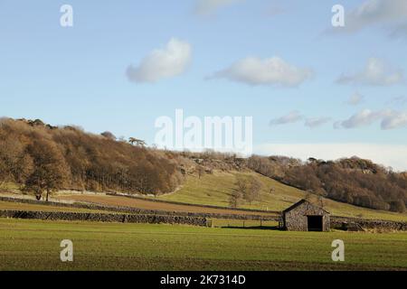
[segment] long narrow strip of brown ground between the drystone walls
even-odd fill
[[[165,203],[165,202],[156,202],[156,201],[151,201],[151,200],[130,199],[127,197],[120,197],[120,196],[65,195],[65,196],[58,197],[58,199],[88,201],[88,202],[98,203],[98,204],[102,204],[102,205],[123,206],[123,207],[131,207],[131,208],[144,209],[144,210],[169,210],[169,211],[184,211],[184,212],[194,212],[194,213],[275,216],[274,213],[251,212],[251,211],[229,210],[229,209],[214,209],[214,208],[205,208],[205,207],[200,207],[200,206],[178,205],[178,204],[171,204],[171,203]]]

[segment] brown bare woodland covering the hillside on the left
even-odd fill
[[[0,120],[0,184],[14,182],[48,200],[61,189],[160,194],[182,182],[171,152],[128,144],[114,135],[41,121]]]

